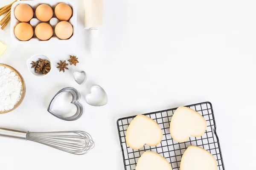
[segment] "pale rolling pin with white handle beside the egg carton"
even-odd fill
[[[98,52],[99,28],[103,26],[103,0],[84,0],[84,27],[90,30],[90,51]]]

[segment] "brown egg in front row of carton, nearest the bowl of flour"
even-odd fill
[[[14,28],[14,34],[21,41],[30,40],[33,37],[33,27],[28,23],[19,23]]]

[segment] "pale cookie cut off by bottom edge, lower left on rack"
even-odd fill
[[[146,151],[139,158],[135,170],[172,170],[172,166],[158,153]]]

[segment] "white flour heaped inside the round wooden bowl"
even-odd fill
[[[0,66],[0,111],[9,111],[19,101],[21,82],[11,69]]]

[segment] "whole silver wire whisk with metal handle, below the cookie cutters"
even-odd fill
[[[84,131],[23,132],[0,128],[0,136],[41,143],[75,155],[83,155],[95,145],[90,134]]]

